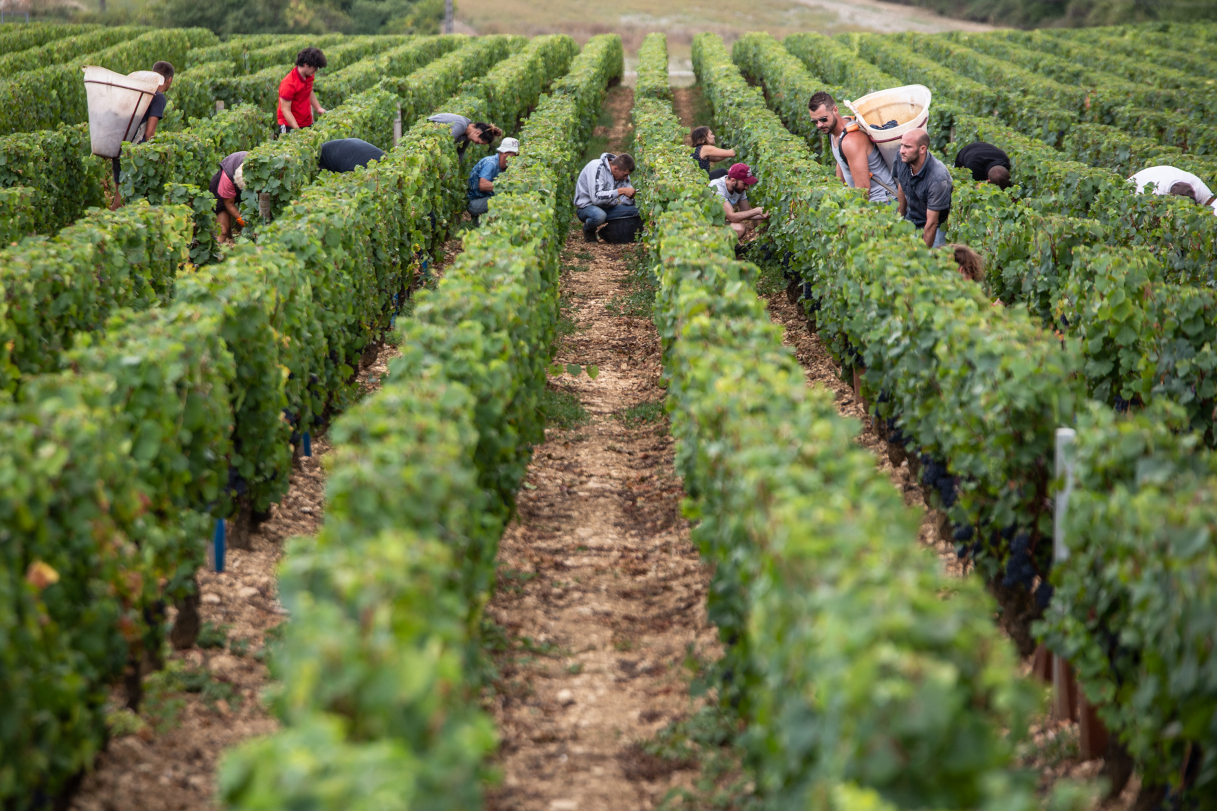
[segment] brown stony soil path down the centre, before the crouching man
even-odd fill
[[[511,648],[498,656],[493,697],[503,782],[488,807],[498,811],[650,809],[691,778],[636,746],[691,711],[685,664],[712,658],[717,632],[667,423],[628,420],[666,393],[654,324],[613,314],[633,251],[587,245],[576,223],[563,253],[578,329],[555,359],[595,364],[599,376],[550,382],[589,421],[546,430],[500,544],[488,619]]]

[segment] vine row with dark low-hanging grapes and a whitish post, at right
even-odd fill
[[[773,58],[763,69],[796,67]],[[913,464],[920,454],[922,481],[997,595],[1003,625],[1023,655],[1039,636],[1083,662],[1087,695],[1144,783],[1177,785],[1191,748],[1217,745],[1211,710],[1196,711],[1217,688],[1201,675],[1211,670],[1206,606],[1217,593],[1212,544],[1199,531],[1212,526],[1212,454],[1195,435],[1172,432],[1187,420],[1170,402],[1117,419],[1088,401],[1077,373],[1092,363],[1082,354],[1089,342],[1060,341],[1026,309],[992,307],[952,257],[926,251],[907,223],[845,189],[717,37],[695,39],[694,68],[724,136],[762,178],[753,194],[774,212],[768,235],[808,285],[821,341],[846,371],[862,374],[890,444],[907,447]],[[1109,290],[1109,270],[1132,275],[1131,259],[1077,253],[1090,258],[1076,259],[1089,275],[1077,274],[1075,289],[1093,296],[1095,315],[1110,317],[1095,300]],[[1118,261],[1126,267],[1112,268]],[[1117,320],[1132,307],[1118,296],[1106,303]],[[1079,490],[1064,527],[1071,556],[1054,566],[1059,425],[1077,429]],[[1189,779],[1204,794],[1213,776],[1202,766]]]

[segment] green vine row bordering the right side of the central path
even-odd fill
[[[694,47],[705,71],[703,39]],[[757,793],[775,809],[1034,807],[1010,768],[1034,700],[988,599],[975,583],[941,599],[947,576],[918,548],[916,520],[853,444],[857,424],[806,386],[755,268],[730,258],[671,107],[640,105],[677,464],[716,564],[720,689],[747,720]]]

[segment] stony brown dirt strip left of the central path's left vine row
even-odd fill
[[[460,252],[460,240],[443,246],[434,276]],[[360,370],[360,397],[380,390],[397,347],[385,345]],[[252,535],[252,549],[229,549],[225,571],[201,570],[200,620],[195,647],[175,650],[166,669],[145,679],[139,715],[123,712],[122,726],[72,799],[74,811],[204,811],[218,807],[215,773],[224,751],[277,722],[262,700],[269,683],[268,637],[287,620],[279,602],[275,570],[284,543],[313,535],[325,516],[325,436],[313,438],[313,455],[298,457],[284,499]],[[170,621],[173,611],[170,609]],[[112,707],[127,695],[114,690]]]

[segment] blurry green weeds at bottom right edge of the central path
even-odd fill
[[[671,789],[657,811],[756,811],[756,783],[744,767],[744,749],[735,742],[738,718],[719,706],[706,706],[674,721],[633,749],[641,767],[696,768],[691,789]]]

